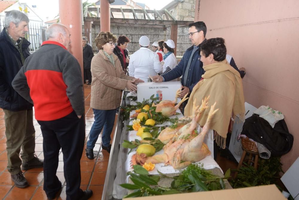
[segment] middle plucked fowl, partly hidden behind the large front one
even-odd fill
[[[205,98],[204,100],[202,100],[202,104],[199,107],[199,113],[198,113],[198,117],[200,117],[201,113],[208,108],[208,98]],[[193,103],[193,108],[195,107],[195,101]],[[176,137],[178,137],[181,133],[185,132],[186,129],[188,129],[191,125],[192,121],[192,116],[184,116],[180,119],[178,119],[178,122],[176,122],[176,124],[165,128],[164,130],[162,130],[158,136],[158,139],[164,143],[167,144],[175,135]]]

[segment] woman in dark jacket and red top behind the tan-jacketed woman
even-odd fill
[[[126,36],[119,36],[117,39],[117,46],[114,48],[113,53],[118,56],[120,64],[123,68],[123,71],[126,72],[127,67],[129,65],[129,58],[128,58],[128,43],[130,42],[129,38]]]

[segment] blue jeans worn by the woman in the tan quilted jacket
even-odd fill
[[[89,132],[89,140],[87,141],[87,149],[93,149],[95,143],[97,142],[97,138],[99,137],[103,127],[103,135],[102,135],[102,145],[109,146],[111,140],[111,132],[113,129],[114,121],[115,121],[115,113],[114,110],[97,110],[92,109],[94,112],[94,123],[92,124],[91,130]]]

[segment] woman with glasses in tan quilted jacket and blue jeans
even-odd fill
[[[125,75],[118,57],[113,53],[115,42],[116,37],[108,31],[100,32],[95,38],[99,52],[91,60],[90,107],[94,113],[94,123],[86,146],[86,156],[89,159],[94,159],[93,148],[103,128],[102,149],[110,153],[110,135],[116,108],[120,105],[120,92],[125,88],[136,91],[135,84],[143,82]]]

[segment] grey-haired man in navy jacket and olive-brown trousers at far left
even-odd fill
[[[33,105],[16,93],[11,85],[30,55],[30,43],[24,38],[28,23],[29,19],[24,13],[8,11],[4,19],[5,27],[0,34],[0,107],[4,111],[7,170],[19,188],[28,186],[21,165],[22,170],[43,166],[42,160],[34,154]],[[21,148],[22,160],[19,157]]]

